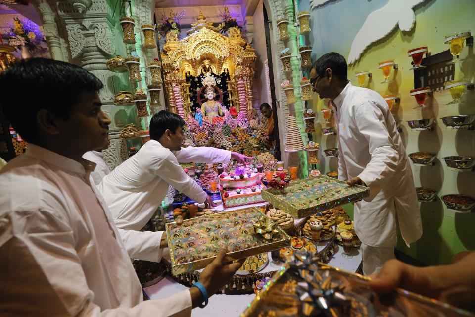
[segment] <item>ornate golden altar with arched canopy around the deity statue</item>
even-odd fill
[[[245,111],[247,117],[252,113],[254,49],[239,28],[230,28],[223,35],[201,12],[191,26],[181,40],[177,32],[167,33],[161,53],[169,110],[186,117],[193,103],[196,108],[206,100],[204,89],[210,86],[217,101],[224,100],[227,109],[234,106]],[[221,81],[225,91],[218,88]]]

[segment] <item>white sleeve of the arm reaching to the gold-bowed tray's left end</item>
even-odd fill
[[[160,241],[163,231],[135,231],[117,228],[131,259],[160,262],[163,250]]]

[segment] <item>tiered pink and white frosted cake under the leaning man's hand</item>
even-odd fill
[[[261,190],[266,187],[259,181],[260,174],[252,173],[244,178],[226,176],[220,178],[223,187],[221,197],[223,207],[237,207],[265,202],[261,196]]]

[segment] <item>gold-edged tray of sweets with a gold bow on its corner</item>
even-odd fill
[[[270,239],[255,233],[253,220],[264,217],[274,229]],[[220,248],[227,248],[232,259],[241,259],[290,245],[290,237],[257,208],[227,211],[165,225],[172,274],[206,267]]]

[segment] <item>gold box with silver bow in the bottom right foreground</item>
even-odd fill
[[[274,274],[241,317],[474,316],[432,298],[395,289],[380,300],[369,277],[297,254]],[[310,295],[311,294],[311,295]]]

